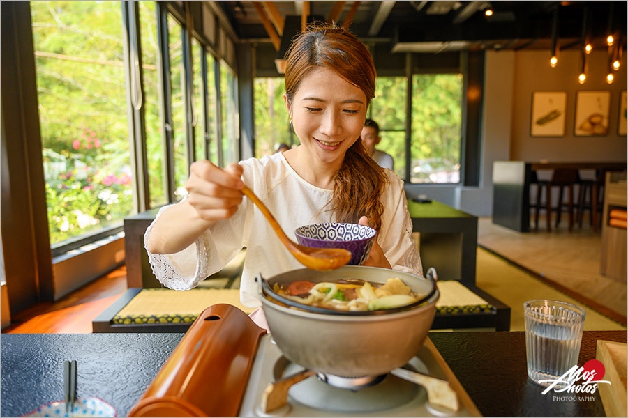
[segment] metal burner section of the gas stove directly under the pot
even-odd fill
[[[431,343],[430,343],[431,344]],[[431,350],[421,348],[403,369],[447,380]],[[303,373],[303,374],[301,374]],[[401,374],[401,373],[399,373]],[[290,377],[297,380],[290,385]],[[304,380],[298,381],[299,378]],[[287,404],[264,412],[269,383],[288,380]],[[426,389],[392,373],[343,378],[305,371],[285,358],[272,336],[262,336],[239,410],[241,417],[471,417],[462,403],[458,411],[428,402]]]

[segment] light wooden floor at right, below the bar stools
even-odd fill
[[[544,225],[541,220],[539,224]],[[481,218],[478,244],[576,300],[626,325],[627,283],[599,273],[601,233],[587,222],[582,229],[519,233]]]

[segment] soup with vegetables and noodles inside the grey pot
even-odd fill
[[[337,311],[398,308],[417,302],[425,296],[413,292],[398,277],[389,278],[383,285],[361,279],[320,283],[301,280],[286,285],[274,284],[273,291],[294,302]]]

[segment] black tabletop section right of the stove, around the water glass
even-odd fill
[[[597,340],[625,343],[626,331],[585,331],[578,366],[595,359]],[[430,339],[485,417],[605,417],[592,401],[560,401],[528,379],[525,332],[432,332]]]

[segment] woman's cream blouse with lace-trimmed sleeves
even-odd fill
[[[296,242],[294,230],[306,224],[334,222],[334,216],[321,208],[331,200],[332,191],[320,189],[301,178],[281,153],[251,158],[239,163],[242,179],[268,206],[283,231]],[[412,222],[403,191],[403,181],[392,171],[382,196],[384,214],[377,242],[395,270],[423,275],[417,245],[412,240]],[[176,203],[175,203],[176,204]],[[156,217],[161,215],[162,208]],[[155,221],[154,221],[155,222]],[[144,234],[144,245],[154,222]],[[188,290],[221,270],[246,247],[240,284],[240,299],[247,307],[259,307],[255,277],[270,278],[289,270],[304,268],[285,249],[262,212],[246,197],[230,219],[216,222],[196,242],[175,254],[151,254],[151,268],[168,288]]]

